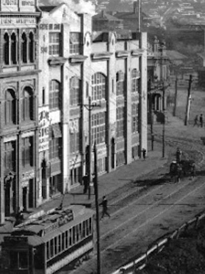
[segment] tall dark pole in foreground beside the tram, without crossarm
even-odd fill
[[[100,274],[100,220],[98,205],[98,174],[97,174],[97,148],[94,144],[94,168],[95,168],[95,208],[96,208],[96,234],[97,234],[97,274]]]

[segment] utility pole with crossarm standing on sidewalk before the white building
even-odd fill
[[[88,99],[88,104],[80,104],[81,106],[83,105],[88,111],[89,111],[89,150],[88,150],[88,161],[89,161],[89,171],[88,171],[88,199],[90,199],[90,183],[91,183],[91,178],[92,178],[92,171],[91,171],[91,164],[92,164],[92,140],[91,140],[91,111],[94,107],[101,106],[100,104],[94,103],[91,104],[91,96],[89,96]]]

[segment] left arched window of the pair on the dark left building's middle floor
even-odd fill
[[[4,118],[5,124],[15,124],[16,123],[16,100],[15,92],[11,89],[5,91],[5,101],[4,101]]]

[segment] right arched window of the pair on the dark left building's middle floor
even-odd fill
[[[22,121],[33,120],[33,91],[30,87],[23,90]]]

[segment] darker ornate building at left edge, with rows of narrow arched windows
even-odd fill
[[[35,0],[0,0],[0,223],[36,205],[38,42]]]

